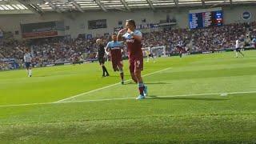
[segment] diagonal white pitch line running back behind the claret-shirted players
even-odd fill
[[[160,73],[160,72],[162,72],[162,71],[170,70],[170,69],[171,69],[171,67],[166,68],[166,69],[163,69],[163,70],[158,70],[158,71],[155,71],[155,72],[150,73],[150,74],[142,75],[142,77],[150,76],[150,75],[153,75],[153,74],[158,74],[158,73]],[[128,80],[126,80],[125,82],[129,82],[129,81],[131,81],[131,80],[132,80],[132,79],[128,79]],[[82,94],[77,94],[77,95],[71,96],[71,97],[69,97],[69,98],[64,98],[64,99],[62,99],[62,100],[57,101],[56,103],[65,102],[65,101],[70,100],[70,99],[73,99],[73,98],[78,98],[78,97],[80,97],[80,96],[82,96],[82,95],[90,94],[90,93],[93,93],[93,92],[95,92],[95,91],[104,90],[104,89],[106,89],[106,88],[109,88],[109,87],[112,87],[112,86],[117,86],[117,85],[120,85],[120,82],[114,83],[114,84],[109,85],[109,86],[104,86],[104,87],[101,87],[101,88],[98,88],[98,89],[95,89],[95,90],[90,90],[90,91],[87,91],[87,92],[82,93]]]

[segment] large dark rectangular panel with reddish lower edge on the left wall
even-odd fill
[[[64,35],[64,22],[21,24],[22,38],[46,38]]]

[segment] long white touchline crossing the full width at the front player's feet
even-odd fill
[[[237,91],[228,93],[208,93],[208,94],[181,94],[181,95],[165,95],[157,97],[146,97],[146,98],[178,98],[178,97],[191,97],[191,96],[204,96],[204,95],[221,95],[221,94],[255,94],[256,91]],[[50,105],[50,104],[63,104],[63,103],[78,103],[78,102],[104,102],[104,101],[116,101],[116,100],[127,100],[135,98],[104,98],[104,99],[92,99],[83,101],[69,101],[69,102],[42,102],[42,103],[27,103],[27,104],[17,104],[17,105],[2,105],[0,107],[12,107],[12,106],[38,106],[38,105]],[[142,100],[144,101],[144,100]]]

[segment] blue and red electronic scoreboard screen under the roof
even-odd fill
[[[208,26],[222,26],[222,10],[198,10],[189,14],[190,29],[203,28]]]

